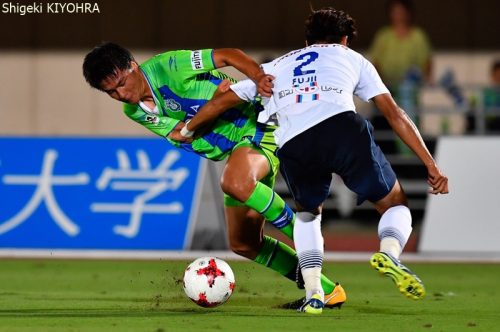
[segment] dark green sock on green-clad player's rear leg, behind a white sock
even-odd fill
[[[254,261],[295,282],[295,273],[299,260],[295,250],[283,242],[264,235],[264,246],[262,246]],[[335,288],[335,284],[323,274],[321,275],[321,286],[325,294],[330,294]]]

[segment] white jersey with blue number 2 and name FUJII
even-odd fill
[[[345,111],[356,111],[353,95],[364,101],[389,93],[375,67],[361,54],[340,44],[315,44],[292,51],[262,65],[273,75],[273,96],[264,100],[260,122],[277,114],[276,143],[291,138],[321,121]],[[231,86],[242,100],[257,94],[244,80]]]

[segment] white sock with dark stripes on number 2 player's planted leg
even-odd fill
[[[323,294],[321,268],[323,265],[323,235],[321,234],[321,214],[298,212],[293,227],[293,241],[299,258],[306,288],[306,298],[313,293]]]

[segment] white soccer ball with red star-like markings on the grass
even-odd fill
[[[225,261],[201,257],[184,271],[184,292],[201,307],[216,307],[229,299],[234,281],[233,270]]]

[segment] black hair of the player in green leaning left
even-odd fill
[[[90,51],[83,60],[83,76],[95,89],[101,90],[101,82],[115,75],[117,70],[130,68],[135,61],[129,50],[120,45],[105,42]]]

